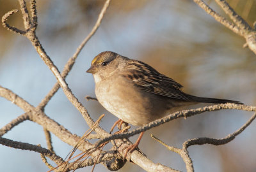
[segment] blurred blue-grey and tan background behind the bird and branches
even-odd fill
[[[225,15],[214,1],[206,1]],[[228,1],[250,25],[256,20],[255,0]],[[91,31],[104,4],[102,0],[45,0],[37,2],[36,34],[54,64],[62,70],[76,48]],[[0,15],[19,8],[18,1],[0,0]],[[20,13],[10,17],[10,25],[23,28]],[[109,131],[117,118],[96,101],[93,77],[85,73],[95,55],[105,50],[147,62],[159,72],[184,86],[189,94],[234,99],[248,105],[256,103],[256,58],[244,39],[216,22],[193,1],[118,1],[113,0],[99,30],[77,58],[67,82],[93,119],[102,113],[100,125]],[[44,98],[56,83],[28,39],[0,27],[0,85],[26,99],[33,106]],[[0,127],[23,113],[0,97]],[[45,113],[72,133],[82,136],[88,129],[83,117],[60,89],[45,108]],[[140,149],[156,163],[185,171],[179,155],[166,151],[150,138],[150,133],[168,145],[182,147],[191,138],[223,138],[243,125],[252,113],[222,110],[180,118],[147,131]],[[133,127],[134,128],[134,127]],[[227,145],[189,147],[195,171],[256,171],[256,122]],[[4,135],[16,141],[47,147],[40,125],[23,122]],[[136,140],[138,136],[131,138]],[[72,149],[52,135],[54,150],[66,157]],[[0,145],[0,171],[47,171],[35,152]],[[77,171],[91,171],[92,167]],[[95,171],[108,171],[98,164]],[[143,171],[127,163],[120,171]]]

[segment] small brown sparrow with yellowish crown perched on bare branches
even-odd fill
[[[98,54],[86,72],[93,75],[99,103],[116,117],[135,126],[148,124],[192,104],[243,104],[229,99],[187,94],[181,90],[180,83],[145,62],[115,52]],[[140,140],[134,143],[131,150],[138,147],[137,143]]]

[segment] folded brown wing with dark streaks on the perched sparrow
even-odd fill
[[[173,99],[191,100],[188,94],[180,90],[182,85],[172,78],[162,75],[147,64],[140,61],[129,61],[129,65],[126,67],[127,70],[123,76],[132,80],[134,85],[137,85],[140,89]]]

